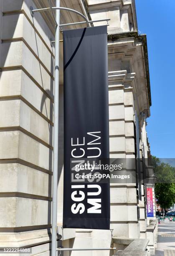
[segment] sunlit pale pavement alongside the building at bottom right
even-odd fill
[[[158,225],[156,256],[175,256],[175,221],[161,221]]]

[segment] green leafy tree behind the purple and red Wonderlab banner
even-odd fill
[[[160,207],[166,209],[175,203],[175,167],[152,156],[155,177],[155,197]]]

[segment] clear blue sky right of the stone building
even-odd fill
[[[175,0],[135,0],[139,33],[147,34],[152,107],[151,154],[175,158]]]

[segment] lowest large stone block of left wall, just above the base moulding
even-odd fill
[[[22,227],[50,224],[51,202],[23,197],[0,197],[0,226]]]

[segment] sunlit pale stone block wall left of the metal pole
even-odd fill
[[[0,246],[49,252],[54,36],[33,1],[0,5]]]

